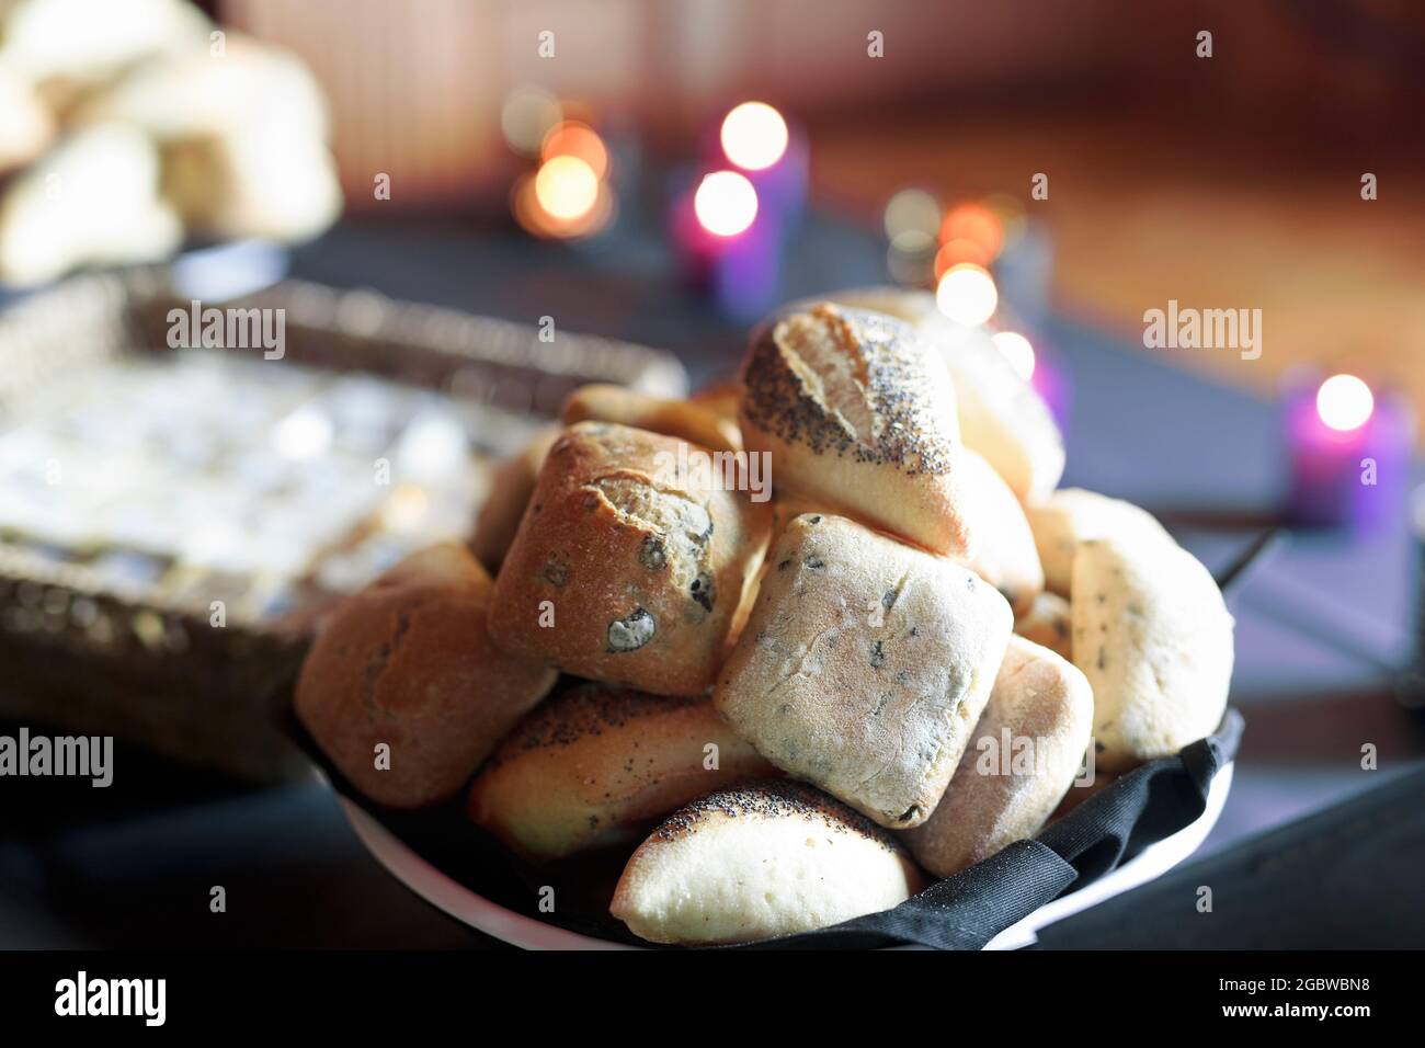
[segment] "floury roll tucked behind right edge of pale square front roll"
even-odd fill
[[[949,877],[1039,833],[1077,777],[1092,727],[1083,673],[1010,637],[949,788],[935,814],[903,834],[916,861]]]

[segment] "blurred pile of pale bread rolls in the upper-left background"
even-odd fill
[[[306,67],[188,0],[4,0],[0,113],[0,284],[305,240],[341,211]]]

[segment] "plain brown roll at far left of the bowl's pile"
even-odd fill
[[[349,597],[316,635],[296,714],[366,797],[398,808],[450,797],[554,684],[551,670],[490,643],[490,590],[463,546],[435,546]]]

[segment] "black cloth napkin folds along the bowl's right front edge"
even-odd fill
[[[895,910],[730,948],[980,950],[1039,907],[1102,877],[1201,816],[1213,779],[1233,761],[1241,733],[1241,713],[1228,709],[1214,734],[1184,747],[1176,757],[1161,757],[1120,776],[1037,838],[1016,841]]]

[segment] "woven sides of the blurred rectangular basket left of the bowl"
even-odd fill
[[[170,311],[190,305],[161,267],[80,277],[9,304],[0,312],[0,451],[36,404],[98,369],[168,366]],[[564,332],[550,342],[533,327],[365,289],[285,281],[222,305],[282,311],[284,362],[459,401],[490,459],[513,452],[586,382],[661,395],[687,385],[665,352]],[[321,595],[214,629],[211,587],[172,592],[98,570],[100,558],[131,552],[76,550],[0,528],[0,717],[114,734],[258,781],[302,774],[301,753],[272,729],[272,703],[301,662]]]

